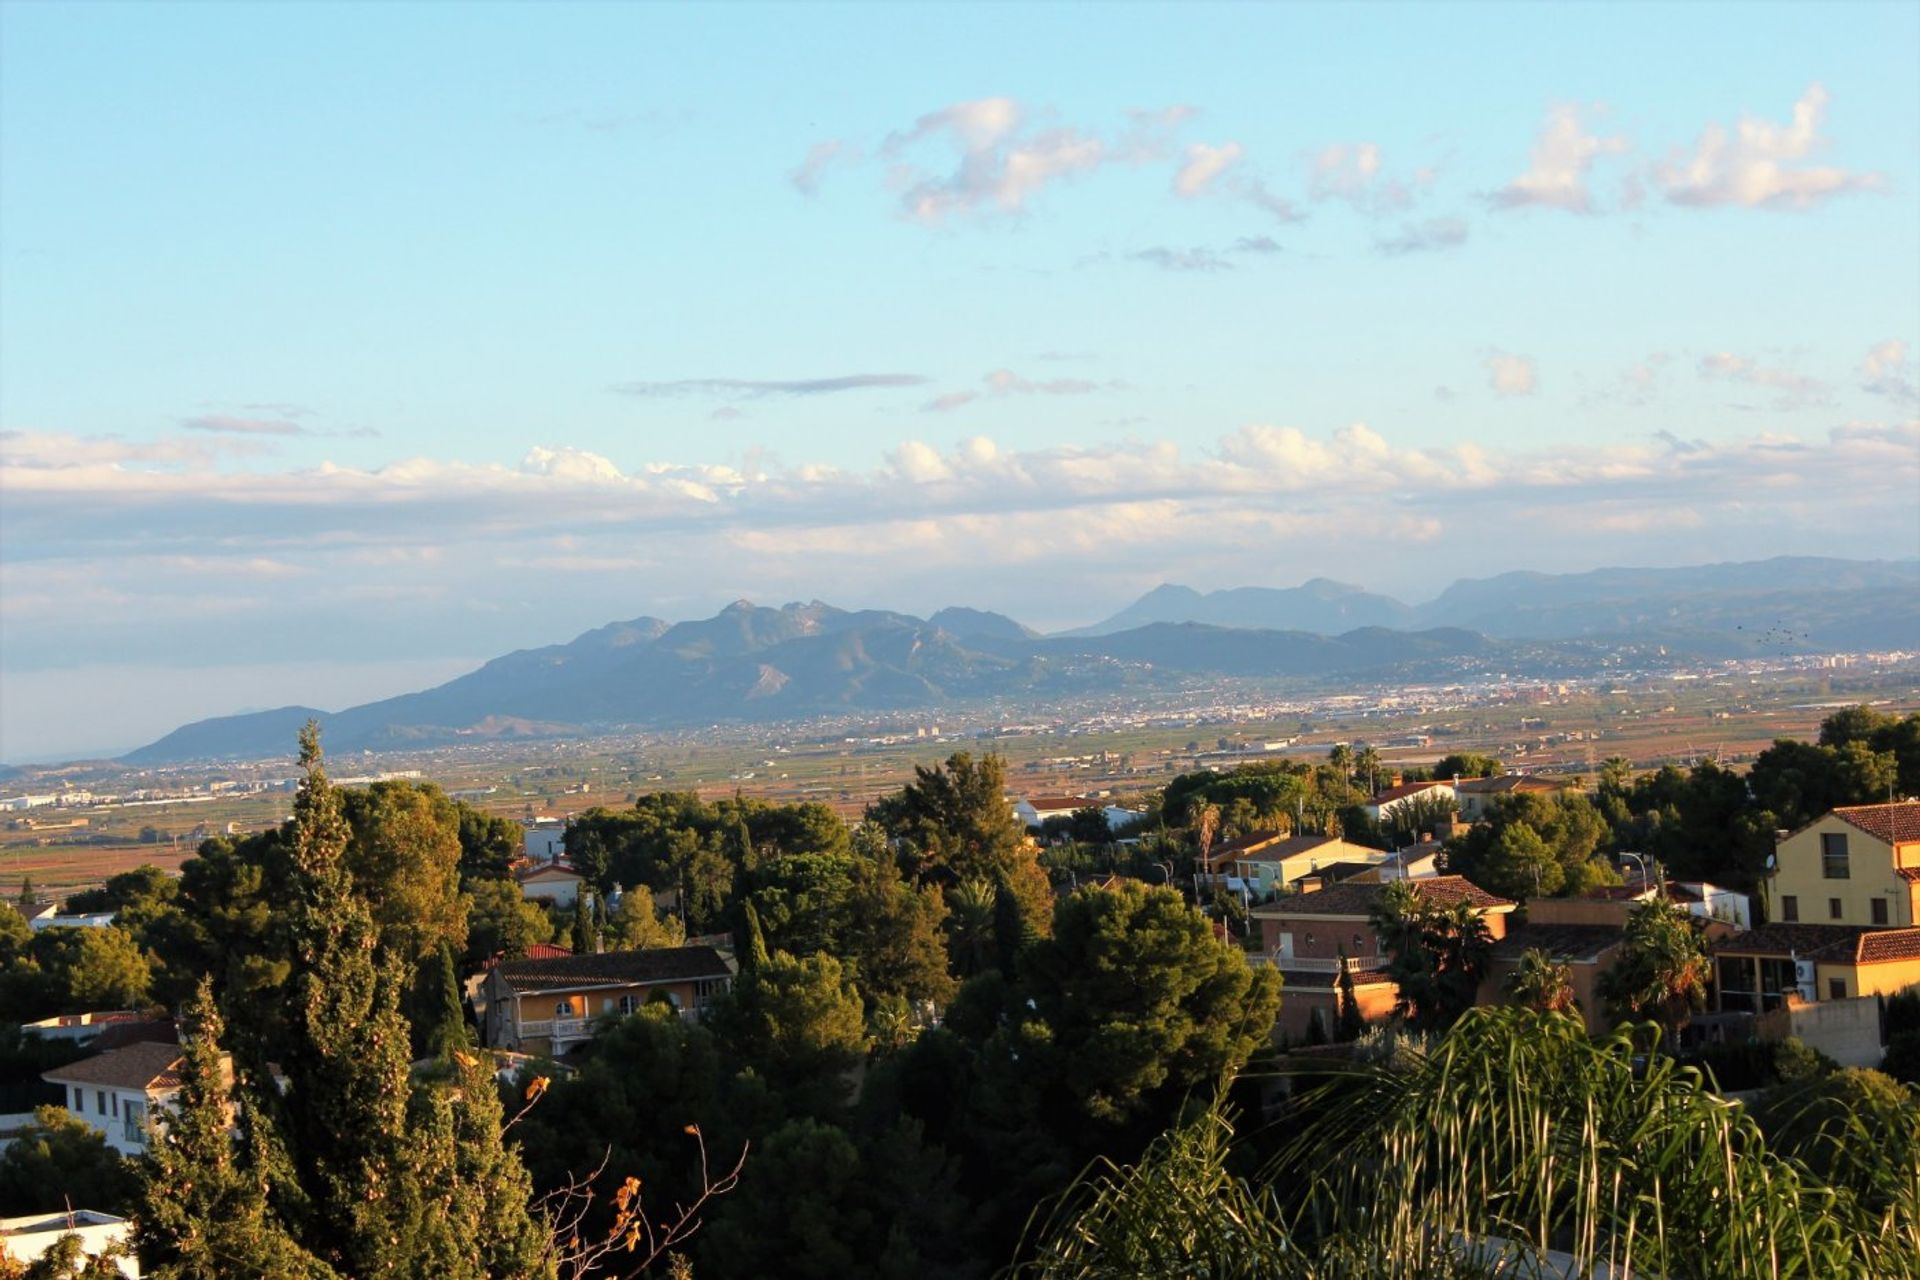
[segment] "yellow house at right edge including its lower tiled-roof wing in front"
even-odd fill
[[[1774,919],[1715,948],[1720,1009],[1920,984],[1920,800],[1837,808],[1782,835],[1766,892]]]

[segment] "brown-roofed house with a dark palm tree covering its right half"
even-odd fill
[[[1409,881],[1423,900],[1452,906],[1467,902],[1501,938],[1513,902],[1494,896],[1461,875]],[[1396,990],[1386,977],[1386,948],[1373,933],[1373,908],[1386,892],[1384,883],[1344,881],[1317,892],[1281,894],[1252,915],[1260,923],[1261,958],[1281,971],[1286,996],[1281,1000],[1279,1034],[1300,1040],[1313,1023],[1332,1031],[1338,1013],[1340,965],[1354,975],[1354,1002],[1367,1021],[1394,1009]],[[1344,956],[1344,960],[1342,960]]]

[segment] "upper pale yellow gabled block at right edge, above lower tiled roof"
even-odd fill
[[[1920,923],[1920,800],[1853,804],[1780,841],[1768,885],[1784,925]]]

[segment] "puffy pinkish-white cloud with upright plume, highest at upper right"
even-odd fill
[[[1820,125],[1828,92],[1812,84],[1793,104],[1788,125],[1741,115],[1728,130],[1707,125],[1692,152],[1676,152],[1653,169],[1653,178],[1676,205],[1740,205],[1747,209],[1811,209],[1843,192],[1878,190],[1880,173],[1811,163],[1824,150]]]

